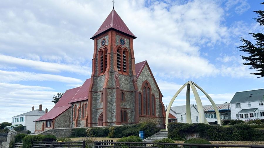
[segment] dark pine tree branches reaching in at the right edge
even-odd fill
[[[264,3],[260,3],[264,4]],[[264,26],[264,11],[263,10],[258,10],[258,11],[253,11],[256,14],[258,14],[258,18],[254,18],[256,22],[259,23],[260,26]],[[244,42],[242,46],[239,46],[241,50],[246,52],[249,56],[243,56],[243,60],[248,61],[248,63],[243,63],[243,65],[250,65],[250,69],[256,69],[259,72],[256,73],[251,73],[254,75],[263,77],[264,76],[264,34],[262,33],[249,33],[250,35],[255,38],[255,45],[253,45],[250,41],[240,37],[241,42]]]

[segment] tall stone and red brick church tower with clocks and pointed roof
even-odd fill
[[[113,9],[94,40],[91,85],[88,100],[88,126],[138,123],[138,88],[133,40]]]

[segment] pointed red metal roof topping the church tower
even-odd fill
[[[99,35],[100,33],[103,33],[104,31],[114,28],[116,30],[119,30],[123,33],[126,33],[127,35],[132,36],[134,39],[137,38],[126,26],[124,21],[120,18],[120,16],[116,13],[116,11],[113,9],[110,14],[107,16],[107,18],[104,20],[104,23],[100,26],[100,28],[97,30],[97,32],[93,35],[91,39],[94,39],[95,36]]]

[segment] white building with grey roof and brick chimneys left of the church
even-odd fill
[[[48,109],[46,109],[48,112]],[[12,125],[23,125],[26,126],[26,130],[30,130],[31,132],[35,131],[35,120],[40,118],[45,114],[45,111],[42,110],[42,105],[39,105],[39,109],[34,110],[34,106],[32,106],[32,110],[23,113],[20,115],[16,115],[12,117]]]

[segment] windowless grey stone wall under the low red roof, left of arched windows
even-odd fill
[[[67,109],[64,113],[55,118],[54,128],[71,127],[72,108]]]

